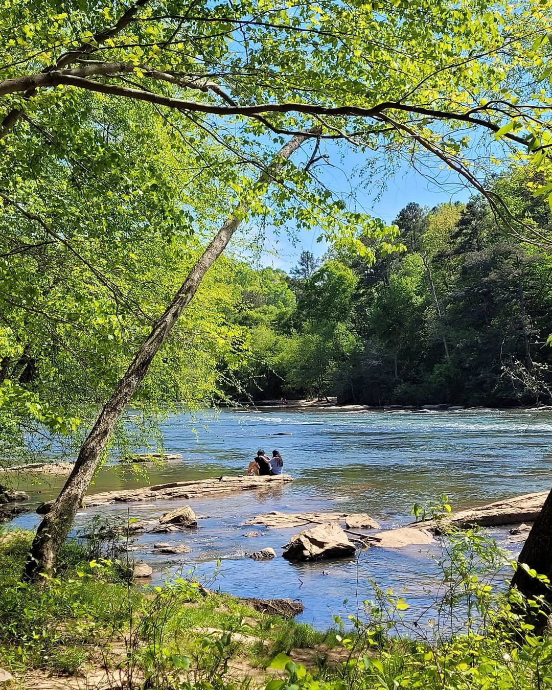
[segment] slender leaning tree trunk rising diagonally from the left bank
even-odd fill
[[[268,172],[264,172],[257,181],[257,187],[260,188],[259,193],[262,193],[264,185],[275,179],[279,162],[288,159],[307,138],[308,133],[295,135],[279,150],[272,166],[268,168]],[[59,549],[67,538],[75,515],[97,469],[101,453],[106,448],[117,420],[144,379],[153,357],[166,341],[172,326],[175,325],[179,315],[197,292],[201,279],[213,265],[215,259],[224,251],[236,228],[246,216],[248,206],[247,201],[242,201],[217,232],[166,308],[165,313],[153,325],[150,335],[142,344],[110,400],[99,414],[92,431],[81,446],[77,462],[75,462],[65,486],[61,489],[61,493],[52,505],[50,512],[44,516],[39,524],[25,566],[26,578],[37,580],[41,573],[50,574],[55,570]]]

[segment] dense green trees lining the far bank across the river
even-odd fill
[[[526,175],[526,173],[524,173]],[[542,180],[495,181],[527,224],[551,226]],[[232,395],[509,406],[551,398],[552,257],[505,233],[486,202],[415,202],[395,219],[404,250],[375,264],[303,251],[286,275],[237,276],[250,355]]]

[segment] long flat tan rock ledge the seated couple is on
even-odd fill
[[[155,484],[143,489],[122,489],[121,491],[104,491],[86,496],[84,504],[87,508],[106,506],[112,503],[133,501],[165,501],[172,498],[188,500],[201,496],[218,496],[235,491],[254,491],[268,489],[270,486],[281,486],[286,482],[293,482],[290,475],[275,477],[213,477],[196,482],[171,482],[170,484]]]

